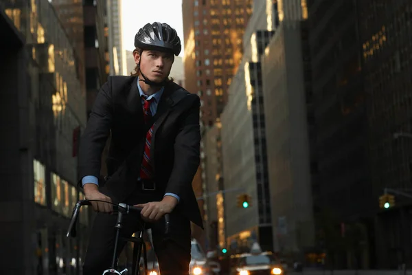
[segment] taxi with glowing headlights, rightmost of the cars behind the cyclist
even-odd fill
[[[275,259],[272,252],[262,252],[260,248],[250,253],[233,256],[230,275],[284,275],[286,270]]]

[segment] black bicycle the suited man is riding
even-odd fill
[[[76,206],[73,208],[73,213],[71,214],[71,221],[69,224],[69,228],[67,230],[66,236],[72,236],[76,237],[76,221],[78,219],[78,214],[80,212],[80,207],[82,206],[91,206],[91,201],[100,201],[98,199],[82,199],[76,203]],[[109,201],[100,201],[104,203],[111,203],[113,205],[113,211],[117,212],[117,221],[115,224],[115,246],[113,250],[113,258],[111,262],[111,267],[109,267],[107,270],[104,270],[102,275],[110,275],[110,274],[117,274],[117,275],[126,275],[128,272],[128,268],[126,265],[126,268],[122,271],[116,270],[115,265],[116,265],[116,250],[117,250],[117,245],[119,243],[119,239],[122,239],[124,241],[130,241],[132,243],[135,243],[134,248],[133,248],[133,264],[132,264],[132,272],[134,275],[139,275],[140,272],[140,259],[141,259],[141,252],[143,250],[143,260],[144,260],[144,267],[145,267],[145,274],[148,275],[148,259],[147,259],[147,254],[146,254],[146,245],[144,243],[143,239],[143,232],[144,232],[144,226],[142,226],[141,230],[139,230],[139,236],[130,236],[130,237],[121,237],[120,236],[120,230],[122,229],[122,217],[124,214],[129,214],[129,212],[135,212],[135,213],[140,213],[140,211],[143,208],[136,207],[136,206],[128,206],[126,203],[112,203]],[[169,225],[170,225],[170,215],[165,214],[165,234],[167,235],[169,232]]]

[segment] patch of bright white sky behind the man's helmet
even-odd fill
[[[168,23],[179,35],[183,56],[182,0],[122,0],[123,47],[135,50],[135,34],[146,23]]]

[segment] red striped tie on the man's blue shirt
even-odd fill
[[[143,113],[144,113],[144,122],[148,123],[150,118],[152,118],[152,113],[150,112],[150,100],[146,100],[145,96],[141,96],[144,100]],[[150,142],[152,140],[153,125],[150,127],[148,133],[146,133],[146,143],[144,145],[143,159],[141,160],[141,169],[140,169],[140,178],[141,179],[151,179],[153,175],[153,167],[150,162]]]

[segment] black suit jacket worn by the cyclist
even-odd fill
[[[157,189],[162,194],[179,195],[178,208],[203,228],[192,188],[200,164],[199,108],[200,99],[196,94],[175,83],[165,86],[157,107],[150,159]],[[80,140],[80,184],[86,175],[100,178],[102,151],[111,135],[106,160],[111,177],[104,188],[115,201],[126,199],[137,186],[146,130],[137,78],[110,76],[98,93]],[[132,151],[135,153],[130,155]]]

